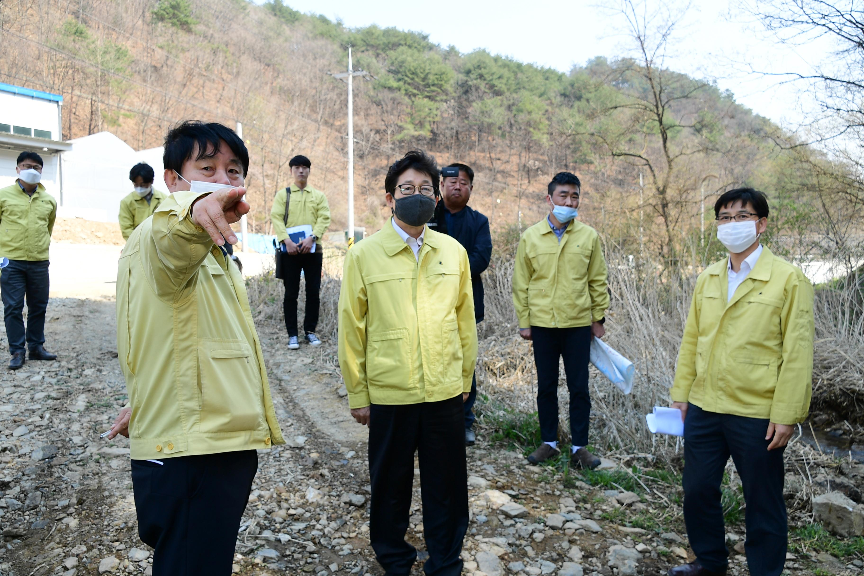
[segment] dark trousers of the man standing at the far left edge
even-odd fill
[[[0,275],[3,321],[10,354],[45,344],[45,309],[48,307],[48,260],[10,260]],[[27,331],[24,301],[27,300]]]

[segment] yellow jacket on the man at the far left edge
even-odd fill
[[[18,181],[0,189],[0,256],[10,260],[48,260],[57,218],[57,201],[41,184],[32,196]]]

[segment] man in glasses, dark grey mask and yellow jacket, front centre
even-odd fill
[[[465,413],[477,361],[467,252],[429,230],[435,161],[412,151],[384,180],[393,218],[345,259],[339,364],[351,414],[369,425],[370,541],[384,572],[407,575],[405,541],[419,453],[429,576],[460,576],[468,525]]]

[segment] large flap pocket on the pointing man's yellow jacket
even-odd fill
[[[243,340],[200,339],[200,432],[241,432],[264,425],[261,374]]]

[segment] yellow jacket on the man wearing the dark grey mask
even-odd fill
[[[391,223],[348,251],[339,364],[351,408],[471,391],[477,327],[467,252],[427,227],[419,256]]]

